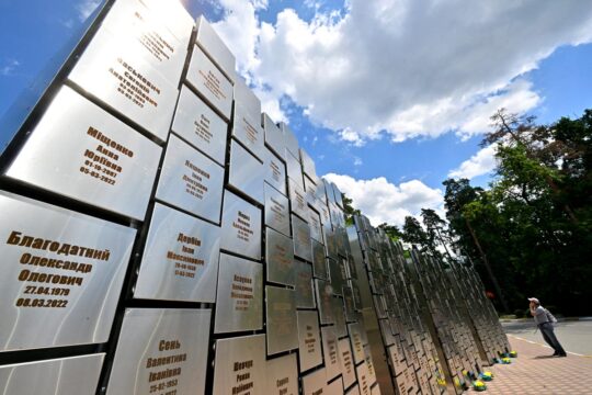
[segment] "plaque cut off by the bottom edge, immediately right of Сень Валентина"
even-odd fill
[[[263,394],[265,368],[265,335],[216,340],[212,393]]]

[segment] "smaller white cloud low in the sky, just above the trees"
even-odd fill
[[[329,173],[323,178],[338,185],[374,226],[382,223],[402,226],[406,216],[418,216],[421,208],[434,208],[442,213],[442,191],[419,180],[396,185],[384,177],[356,180],[350,176]]]

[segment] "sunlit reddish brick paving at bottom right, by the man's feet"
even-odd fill
[[[592,394],[592,358],[572,352],[567,358],[549,358],[553,350],[548,346],[512,335],[508,338],[519,358],[508,365],[486,368],[494,377],[483,395]]]

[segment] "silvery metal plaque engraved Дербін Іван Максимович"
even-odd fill
[[[134,297],[216,301],[220,228],[157,203]]]

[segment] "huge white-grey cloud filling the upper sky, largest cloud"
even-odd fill
[[[286,9],[271,24],[257,16],[264,3],[223,0],[232,12],[217,27],[252,84],[276,101],[289,95],[356,146],[384,133],[395,142],[482,133],[498,108],[539,104],[516,77],[558,46],[592,38],[592,8],[579,0],[345,4],[310,22]]]

